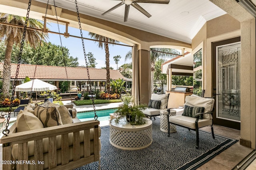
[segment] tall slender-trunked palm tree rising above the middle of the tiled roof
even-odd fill
[[[119,41],[116,41],[114,39],[110,39],[108,37],[104,37],[102,35],[98,35],[96,33],[91,33],[89,32],[88,35],[90,35],[91,38],[98,40],[98,47],[99,48],[103,48],[105,49],[105,53],[106,53],[106,89],[107,89],[107,93],[110,92],[110,68],[109,68],[109,49],[108,49],[108,43],[104,43],[104,42],[109,42],[109,43],[119,43]]]

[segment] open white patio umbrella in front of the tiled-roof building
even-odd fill
[[[15,91],[30,92],[31,87],[32,87],[32,82],[33,82],[33,80],[30,80],[29,82],[26,82],[26,83],[16,86]],[[32,91],[41,92],[41,91],[56,90],[56,89],[57,89],[57,87],[52,84],[49,84],[49,83],[44,82],[39,79],[34,79]],[[36,95],[36,100],[37,100],[37,95]]]

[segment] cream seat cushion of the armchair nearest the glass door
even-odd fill
[[[169,121],[173,122],[173,123],[177,123],[179,125],[189,127],[191,129],[196,129],[196,123],[195,123],[196,118],[194,118],[194,117],[176,115],[176,116],[170,116]],[[199,119],[198,120],[198,128],[205,127],[208,125],[212,125],[212,119]]]

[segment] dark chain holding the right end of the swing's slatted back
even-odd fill
[[[77,1],[76,0],[75,0],[75,3],[76,3],[76,14],[77,14],[77,18],[78,18],[78,24],[79,24],[79,29],[80,29],[81,39],[82,39],[82,45],[83,45],[83,50],[84,50],[84,60],[85,60],[85,63],[86,63],[86,70],[87,70],[87,74],[88,74],[88,82],[89,82],[89,86],[90,86],[90,94],[92,96],[92,84],[91,84],[91,80],[90,80],[90,74],[89,74],[88,63],[87,63],[85,47],[84,47],[84,39],[83,39],[82,27],[81,27],[80,16],[79,16],[78,6],[77,6]],[[95,115],[94,119],[97,120],[98,119],[98,115],[96,115],[96,110],[95,110],[95,105],[94,105],[94,98],[91,97],[91,99],[92,99],[94,115]]]

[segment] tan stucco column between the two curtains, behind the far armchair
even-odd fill
[[[151,98],[150,51],[138,49],[138,57],[138,83],[140,104],[148,104]]]

